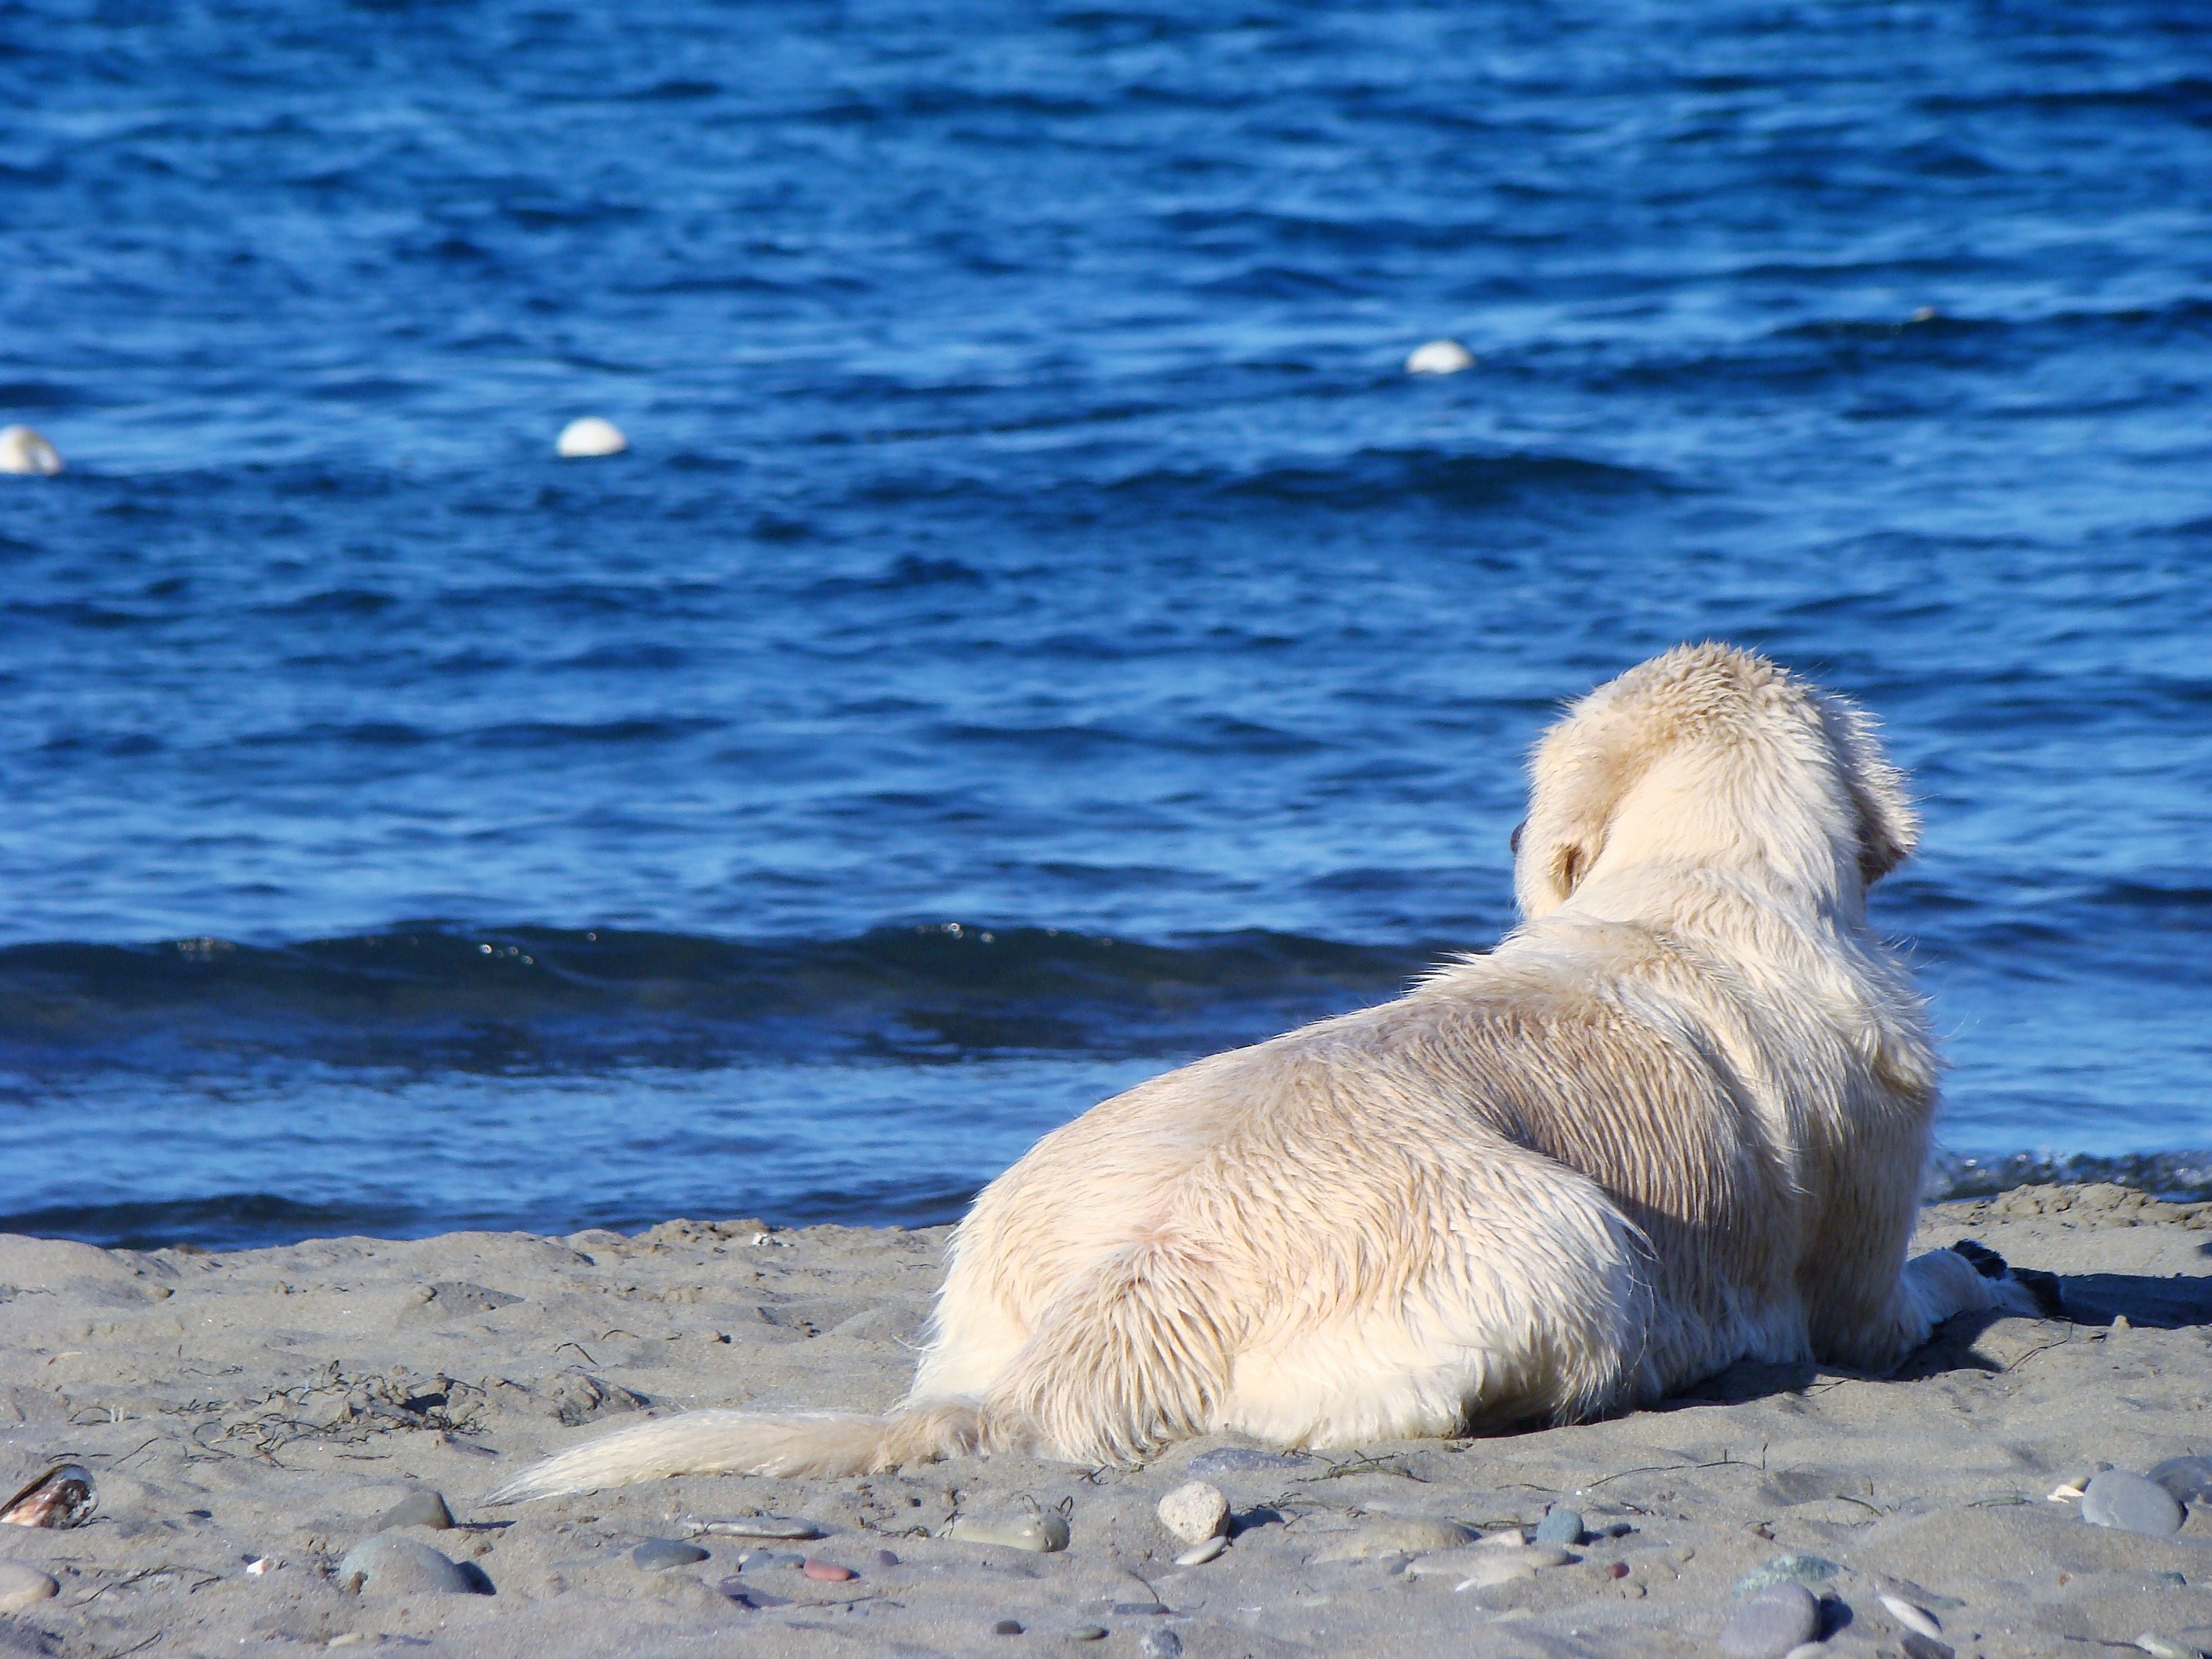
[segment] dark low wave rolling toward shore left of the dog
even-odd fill
[[[0,949],[0,1060],[35,1075],[241,1051],[500,1073],[1181,1055],[1396,995],[1444,953],[964,922],[761,942],[422,922],[296,945],[15,945]]]

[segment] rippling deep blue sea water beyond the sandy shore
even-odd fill
[[[1708,635],[2201,1183],[2208,181],[2181,2],[0,0],[0,1228],[945,1219]]]

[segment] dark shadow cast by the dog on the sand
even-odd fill
[[[2208,1245],[2212,1252],[2212,1245]],[[2017,1314],[1960,1314],[1936,1329],[1936,1334],[1905,1356],[1891,1383],[1918,1383],[1944,1371],[2008,1371],[2046,1345],[2068,1340],[2068,1325],[2081,1329],[2110,1329],[2117,1318],[2146,1329],[2188,1329],[2212,1325],[2212,1279],[2150,1279],[2146,1274],[2059,1274],[2059,1303],[2064,1318],[2042,1321],[2051,1336],[2026,1343],[2011,1334],[2008,1340],[1993,1340],[1991,1327],[2017,1321]],[[1692,1405],[1745,1405],[1774,1394],[1805,1394],[1838,1376],[1860,1376],[1820,1365],[1761,1365],[1739,1360],[1717,1376],[1708,1376],[1694,1389],[1686,1389],[1659,1405],[1661,1411]],[[1871,1378],[1869,1378],[1871,1380]]]

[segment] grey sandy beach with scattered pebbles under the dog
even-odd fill
[[[628,1411],[889,1405],[945,1237],[0,1237],[0,1484],[75,1462],[97,1498],[71,1528],[0,1526],[0,1652],[1690,1655],[1719,1650],[1763,1568],[1820,1597],[1838,1657],[2212,1646],[2212,1520],[2157,1537],[2048,1498],[2097,1464],[2212,1451],[2212,1206],[2112,1186],[1929,1210],[1920,1248],[1980,1239],[2048,1267],[2070,1318],[1955,1321],[1896,1378],[1736,1367],[1610,1422],[1356,1455],[1203,1440],[1139,1471],[1000,1455],[482,1502]],[[1155,1506],[1194,1462],[1234,1535],[1177,1566]],[[431,1491],[453,1526],[380,1526]],[[1453,1524],[1495,1535],[1555,1506],[1582,1515],[1564,1551],[1453,1544]],[[947,1537],[1055,1513],[1064,1551]],[[734,1535],[748,1517],[818,1537]],[[380,1531],[458,1571],[389,1542],[341,1571]],[[706,1555],[641,1566],[650,1540]]]

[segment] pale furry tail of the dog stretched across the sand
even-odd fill
[[[883,1418],[847,1411],[686,1411],[591,1440],[526,1469],[484,1502],[626,1486],[668,1475],[874,1475],[984,1442],[982,1411],[962,1400],[907,1405]]]

